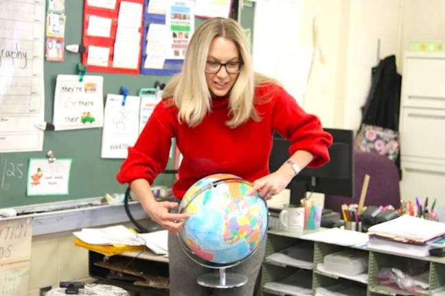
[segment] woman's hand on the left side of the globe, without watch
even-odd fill
[[[166,230],[176,234],[178,233],[185,219],[190,217],[190,214],[174,214],[169,210],[176,208],[178,203],[172,201],[153,201],[147,207],[146,212],[150,218],[164,227]]]

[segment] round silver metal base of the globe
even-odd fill
[[[198,284],[209,288],[237,288],[247,283],[247,276],[240,273],[226,273],[225,268],[218,273],[204,273],[198,276]]]

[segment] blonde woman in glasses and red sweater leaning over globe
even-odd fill
[[[269,173],[273,132],[291,141],[290,158]],[[181,199],[194,182],[214,173],[231,173],[254,183],[266,199],[286,188],[300,169],[329,160],[330,134],[319,119],[306,114],[286,91],[268,77],[253,73],[249,45],[242,28],[227,18],[212,18],[196,30],[187,49],[183,71],[166,86],[135,147],[128,149],[117,180],[130,182],[147,214],[170,230],[170,295],[210,295],[196,283],[205,273],[180,249],[176,234],[187,219],[169,213],[177,203],[155,201],[155,177],[168,162],[171,139],[183,155],[179,180],[173,185]],[[251,295],[264,256],[258,251],[230,271],[249,282],[214,295]]]

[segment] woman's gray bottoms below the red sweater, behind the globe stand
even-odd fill
[[[176,234],[168,234],[168,257],[170,296],[209,296],[230,295],[250,296],[255,291],[255,282],[260,272],[266,251],[266,237],[262,240],[255,254],[235,267],[230,267],[227,272],[241,273],[248,278],[247,284],[239,288],[206,288],[200,286],[196,279],[198,275],[209,272],[218,272],[215,269],[201,267],[194,262],[181,249]]]

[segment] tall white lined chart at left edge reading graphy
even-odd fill
[[[0,0],[0,152],[41,151],[45,1]]]

